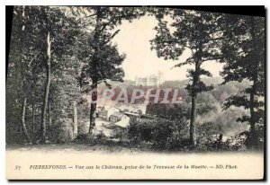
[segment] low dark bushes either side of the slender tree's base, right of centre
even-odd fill
[[[189,123],[164,119],[131,119],[128,137],[131,142],[142,145],[148,143],[157,150],[188,151]],[[247,149],[247,133],[243,132],[224,141],[220,126],[208,122],[198,125],[195,151],[240,151]],[[246,134],[245,134],[246,133]],[[261,142],[263,143],[263,142]]]

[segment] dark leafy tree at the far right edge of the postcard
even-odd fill
[[[265,124],[265,19],[226,15],[220,22],[224,26],[222,84],[246,79],[251,83],[241,95],[230,96],[224,109],[237,106],[250,111],[250,116],[238,118],[238,121],[249,123],[247,145],[257,147],[264,138],[261,128]]]

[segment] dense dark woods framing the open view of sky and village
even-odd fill
[[[265,18],[108,6],[14,6],[6,143],[99,145],[109,139],[95,131],[97,89],[138,87],[123,80],[126,54],[113,38],[123,22],[143,16],[157,19],[156,35],[146,44],[157,57],[179,62],[173,68],[189,66],[189,80],[162,84],[183,87],[182,104],[149,103],[145,115],[140,111],[113,138],[166,150],[263,148]],[[192,55],[182,61],[185,50]],[[220,77],[211,77],[206,62],[224,64]],[[224,142],[223,135],[229,137]]]

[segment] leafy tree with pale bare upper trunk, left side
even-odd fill
[[[59,62],[62,57],[71,52],[70,46],[75,41],[76,22],[75,19],[67,16],[63,10],[57,7],[38,6],[40,14],[40,35],[46,46],[46,84],[44,90],[43,105],[41,111],[41,138],[46,138],[46,115],[49,104],[49,87],[52,73],[59,70],[65,63]],[[52,71],[53,70],[53,71]]]

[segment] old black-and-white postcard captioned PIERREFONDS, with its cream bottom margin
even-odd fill
[[[265,178],[265,16],[31,5],[11,16],[6,179]]]

